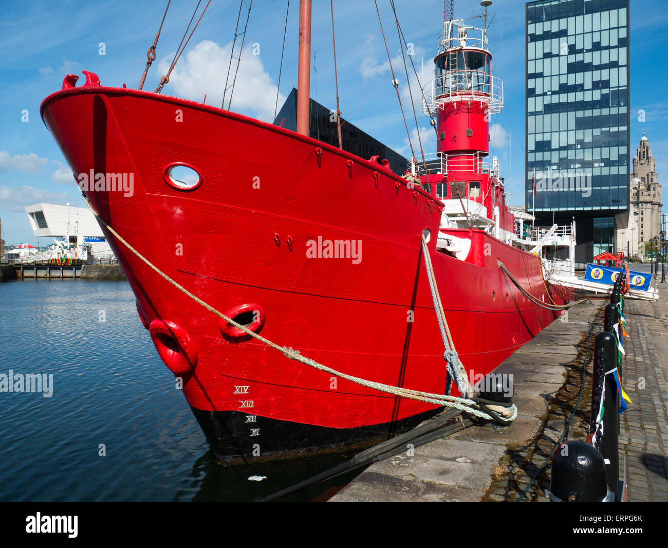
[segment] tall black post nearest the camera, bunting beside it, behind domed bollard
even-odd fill
[[[619,398],[617,382],[612,373],[617,368],[617,340],[613,333],[601,331],[594,343],[594,373],[591,395],[590,434],[596,433],[593,445],[601,452],[607,464],[605,476],[608,489],[617,491],[619,481]],[[605,391],[604,391],[605,386]],[[605,394],[604,394],[605,392]],[[603,418],[599,421],[601,398]]]

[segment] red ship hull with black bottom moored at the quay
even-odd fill
[[[438,198],[407,188],[376,162],[178,98],[88,85],[49,96],[41,110],[75,174],[132,174],[132,193],[91,187],[85,194],[188,291],[222,313],[261,310],[263,336],[340,372],[444,393],[444,348],[421,247],[425,229],[438,235]],[[173,162],[195,166],[201,184],[167,184]],[[163,320],[186,333],[196,367],[177,376],[220,460],[368,444],[436,411],[223,333],[216,315],[104,231],[144,325]],[[436,237],[428,247],[462,364],[486,374],[556,317],[526,299],[497,259],[538,299],[564,303],[572,295],[546,286],[534,255],[484,231],[459,232],[472,239],[466,261],[436,251]],[[307,256],[319,237],[358,242],[359,262]],[[162,358],[185,352],[160,335],[154,342]]]

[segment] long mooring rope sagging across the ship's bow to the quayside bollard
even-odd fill
[[[503,422],[512,422],[517,416],[517,408],[516,406],[512,405],[507,409],[508,412],[510,412],[510,416],[491,416],[490,414],[481,411],[480,408],[478,408],[478,402],[475,402],[474,400],[470,400],[468,398],[457,398],[456,396],[448,396],[446,394],[432,394],[430,392],[420,392],[419,390],[410,390],[409,388],[399,388],[397,386],[391,386],[389,384],[383,384],[381,382],[374,382],[374,381],[369,381],[365,379],[361,379],[359,377],[355,377],[352,375],[348,375],[345,373],[341,373],[335,369],[332,369],[330,367],[327,367],[323,364],[319,364],[315,360],[311,360],[310,358],[306,358],[305,356],[302,356],[299,353],[299,350],[295,350],[294,348],[287,347],[287,346],[279,346],[273,341],[270,341],[269,339],[263,337],[262,335],[259,335],[258,333],[255,333],[255,331],[251,331],[251,329],[248,329],[245,325],[242,325],[240,323],[237,323],[234,321],[232,318],[227,317],[224,315],[222,312],[216,310],[214,307],[209,305],[208,303],[202,301],[197,295],[194,295],[193,293],[190,293],[188,289],[180,285],[178,282],[174,281],[172,278],[170,278],[168,275],[166,275],[164,272],[162,272],[158,267],[156,267],[153,263],[151,263],[144,255],[139,253],[130,243],[126,242],[118,232],[116,232],[110,225],[100,217],[98,212],[94,209],[92,204],[88,201],[88,198],[86,196],[83,196],[83,200],[86,202],[88,207],[90,208],[90,211],[93,213],[93,215],[112,233],[120,243],[122,243],[125,247],[130,250],[131,253],[136,255],[138,259],[140,259],[142,262],[144,262],[150,269],[155,271],[160,277],[162,277],[164,280],[166,280],[168,283],[176,287],[179,291],[184,293],[185,295],[188,295],[193,301],[210,311],[212,314],[215,314],[218,317],[221,317],[225,321],[227,321],[230,325],[233,325],[237,329],[241,329],[241,331],[244,331],[247,335],[250,335],[251,337],[263,342],[267,346],[278,350],[281,352],[286,358],[289,358],[290,360],[295,360],[297,362],[300,362],[301,364],[305,364],[307,366],[310,366],[314,369],[320,370],[327,372],[331,375],[343,378],[345,380],[349,380],[350,382],[354,382],[356,384],[359,384],[361,386],[366,386],[367,388],[373,388],[374,390],[378,390],[379,392],[385,392],[387,394],[392,394],[393,396],[399,396],[400,398],[408,398],[410,400],[418,400],[420,402],[425,402],[428,404],[434,404],[436,406],[446,406],[446,407],[452,407],[455,409],[458,409],[460,411],[472,414],[474,416],[484,418],[485,420],[492,420],[494,422],[498,422],[499,420],[502,420]]]

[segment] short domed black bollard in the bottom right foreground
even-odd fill
[[[552,502],[600,503],[609,501],[605,483],[605,460],[582,440],[562,443],[552,456],[550,489]]]

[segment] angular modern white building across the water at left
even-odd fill
[[[25,207],[28,221],[37,238],[60,240],[63,237],[83,236],[92,246],[95,257],[110,257],[113,252],[90,209],[57,204],[33,204]]]

